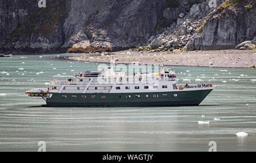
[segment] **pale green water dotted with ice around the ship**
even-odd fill
[[[217,151],[256,151],[255,69],[176,67],[179,84],[214,78],[216,89],[200,106],[47,108],[24,94],[47,88],[53,75],[97,66],[57,55],[0,58],[0,151],[38,151],[39,141],[47,151],[208,151],[209,141]]]

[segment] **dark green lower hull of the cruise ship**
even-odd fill
[[[154,93],[53,93],[52,97],[47,98],[46,102],[47,106],[55,107],[138,107],[199,105],[212,90],[213,89]],[[140,97],[138,97],[138,95]],[[146,97],[146,95],[148,95],[148,97]],[[177,97],[175,97],[176,95]],[[67,96],[67,98],[63,98],[63,96]],[[82,98],[82,96],[86,96],[86,98]],[[92,98],[92,96],[96,97]],[[127,96],[130,96],[130,98],[127,98]]]

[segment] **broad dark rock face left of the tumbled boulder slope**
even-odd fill
[[[163,1],[47,0],[0,2],[1,52],[118,50],[146,42],[162,17]]]

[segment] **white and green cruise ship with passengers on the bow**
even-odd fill
[[[51,107],[144,107],[199,105],[213,91],[212,84],[178,85],[175,70],[160,72],[75,72],[73,76],[54,76],[49,88],[27,91],[42,97]],[[61,80],[60,80],[61,78]]]

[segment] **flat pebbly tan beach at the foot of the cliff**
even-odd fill
[[[110,54],[102,53],[99,56],[69,57],[75,61],[96,63],[110,63],[112,58],[118,60],[115,61],[116,64],[159,65],[163,63],[167,66],[248,68],[251,65],[256,65],[256,50],[198,50],[153,53],[124,50]]]

